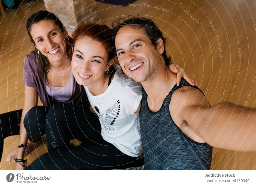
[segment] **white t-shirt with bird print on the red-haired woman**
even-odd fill
[[[139,116],[135,114],[142,98],[142,86],[129,78],[121,67],[113,64],[116,73],[108,89],[97,96],[84,86],[94,112],[100,118],[101,136],[128,156],[142,154]]]

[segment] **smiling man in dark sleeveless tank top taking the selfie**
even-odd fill
[[[148,18],[113,23],[116,55],[125,74],[144,88],[140,132],[144,170],[209,170],[212,146],[256,149],[256,110],[230,103],[210,107],[204,93],[167,66],[161,30]]]

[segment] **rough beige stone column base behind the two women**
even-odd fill
[[[44,0],[44,6],[60,19],[68,32],[84,23],[99,20],[95,0]]]

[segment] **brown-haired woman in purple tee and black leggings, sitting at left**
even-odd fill
[[[61,21],[51,12],[39,11],[28,18],[27,30],[35,51],[23,61],[24,106],[21,110],[0,115],[0,160],[4,138],[20,134],[20,148],[7,158],[18,162],[16,170],[25,168],[24,155],[45,134],[46,115],[51,105],[64,102],[89,111],[84,88],[76,83],[71,71],[68,52],[73,40]],[[38,96],[44,106],[37,106]],[[94,119],[98,122],[97,117]]]

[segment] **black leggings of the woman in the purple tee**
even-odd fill
[[[45,134],[45,119],[48,110],[49,107],[35,106],[27,112],[23,123],[30,141],[39,141]],[[22,109],[0,114],[0,161],[3,154],[4,138],[20,133],[21,113]]]

